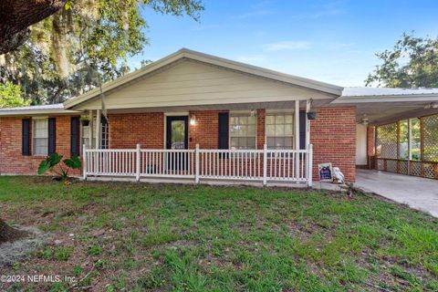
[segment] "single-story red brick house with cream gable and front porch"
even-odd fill
[[[300,183],[374,167],[375,126],[436,114],[438,89],[347,88],[181,49],[63,104],[0,110],[0,173],[79,155],[84,178]],[[309,120],[307,112],[316,112]]]

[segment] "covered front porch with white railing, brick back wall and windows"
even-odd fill
[[[311,104],[86,110],[83,178],[311,186]]]

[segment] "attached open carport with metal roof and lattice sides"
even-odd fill
[[[332,103],[356,106],[358,168],[438,179],[438,89],[347,88]]]

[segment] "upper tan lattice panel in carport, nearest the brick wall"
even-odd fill
[[[397,123],[377,127],[376,149],[379,157],[397,159],[397,143]]]

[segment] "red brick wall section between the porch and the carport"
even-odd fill
[[[317,120],[310,122],[313,144],[313,177],[318,180],[318,163],[339,167],[348,182],[356,176],[356,108],[320,108]]]

